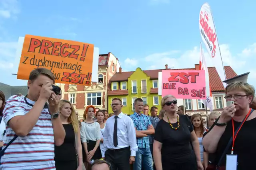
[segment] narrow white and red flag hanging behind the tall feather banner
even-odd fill
[[[205,84],[206,84],[206,100],[203,100],[204,106],[210,109],[210,111],[213,110],[213,104],[212,104],[212,90],[210,88],[210,82],[209,82],[209,73],[208,68],[206,65],[206,60],[204,58],[204,53],[202,49],[202,44],[200,43],[200,61],[199,61],[199,69],[205,70]]]

